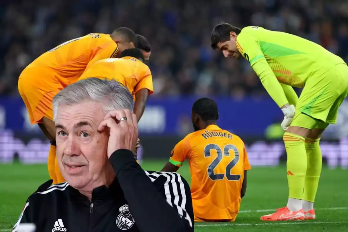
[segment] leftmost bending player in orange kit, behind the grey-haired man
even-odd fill
[[[29,64],[19,76],[18,90],[30,121],[32,124],[38,123],[51,142],[48,173],[53,184],[64,182],[56,162],[53,97],[76,82],[98,60],[117,57],[119,51],[135,46],[136,35],[126,27],[120,27],[110,35],[91,33],[47,51]]]

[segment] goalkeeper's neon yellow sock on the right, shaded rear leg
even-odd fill
[[[322,151],[318,139],[306,138],[307,171],[304,181],[303,200],[314,202],[322,170]]]

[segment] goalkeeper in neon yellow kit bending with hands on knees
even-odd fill
[[[212,31],[211,46],[225,57],[247,59],[285,115],[289,198],[286,207],[261,220],[315,219],[313,205],[322,168],[319,140],[329,123],[336,123],[347,96],[346,63],[314,42],[257,26],[240,30],[220,23]],[[303,87],[300,98],[291,86]]]

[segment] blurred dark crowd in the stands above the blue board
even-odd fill
[[[343,0],[5,0],[0,13],[1,95],[18,95],[19,74],[45,51],[120,26],[150,41],[157,96],[267,94],[246,61],[211,49],[210,34],[220,22],[296,34],[348,60]]]

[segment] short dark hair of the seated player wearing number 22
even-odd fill
[[[198,114],[204,121],[219,119],[216,102],[207,97],[199,98],[192,106],[192,113]]]

